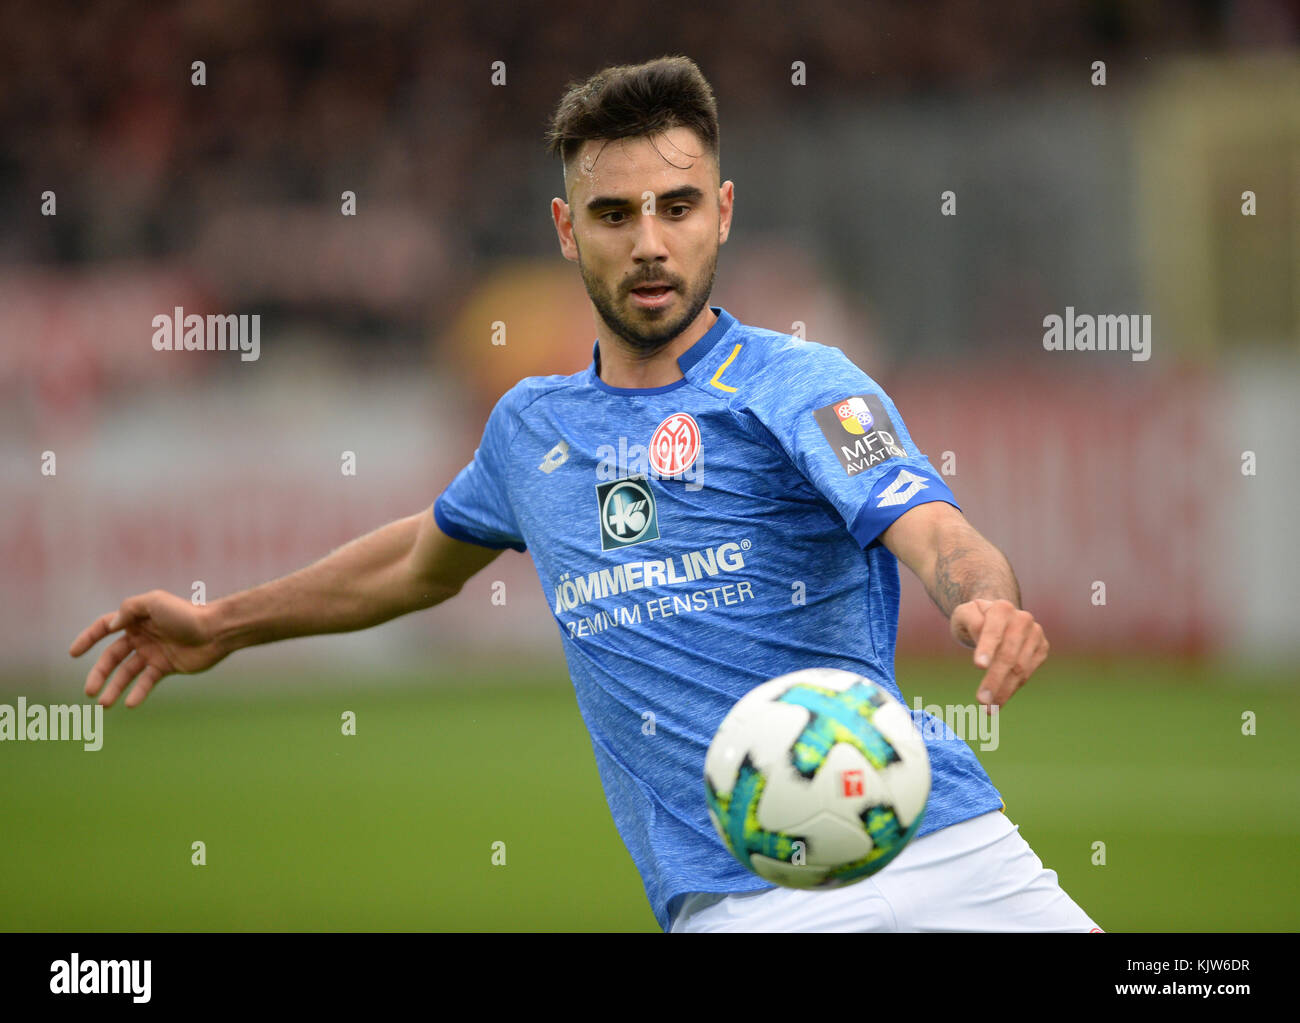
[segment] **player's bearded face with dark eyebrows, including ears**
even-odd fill
[[[585,143],[569,201],[551,203],[560,247],[578,264],[597,313],[644,355],[690,326],[712,292],[733,194],[718,177],[696,133],[675,127]]]

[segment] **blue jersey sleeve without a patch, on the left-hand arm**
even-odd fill
[[[519,430],[514,391],[507,391],[484,428],[473,460],[433,503],[438,529],[481,547],[526,550],[507,487],[510,445]]]

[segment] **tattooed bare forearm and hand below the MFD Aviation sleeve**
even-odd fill
[[[975,647],[975,667],[985,669],[979,702],[1006,703],[1046,659],[1048,641],[1020,610],[1020,588],[1002,552],[939,500],[898,516],[880,542],[924,584],[953,638]]]

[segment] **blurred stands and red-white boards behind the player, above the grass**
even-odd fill
[[[1295,351],[1297,40],[1294,0],[10,0],[0,646],[65,660],[69,623],[124,589],[188,586],[198,560],[229,591],[426,506],[506,387],[590,357],[546,205],[564,87],[685,53],[737,183],[715,295],[888,381],[923,450],[959,454],[963,508],[1014,541],[1053,636],[1292,650],[1271,538],[1295,477],[1223,473],[1245,478],[1238,450],[1286,464],[1269,447],[1297,432],[1294,360],[1212,389],[1182,373],[1179,324],[1205,351],[1234,322]],[[155,351],[177,307],[261,316],[263,360]],[[1044,313],[1071,307],[1152,313],[1157,357],[1044,351]],[[1256,308],[1280,312],[1238,315]],[[360,485],[339,451],[361,452]],[[511,564],[511,591],[536,591]],[[1096,578],[1109,611],[1079,595]],[[512,641],[551,634],[534,604]],[[448,642],[504,641],[459,607]],[[920,593],[904,633],[948,642]]]

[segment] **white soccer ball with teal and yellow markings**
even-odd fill
[[[705,797],[723,842],[759,877],[838,888],[879,871],[916,833],[930,755],[881,686],[806,668],[732,707],[705,757]]]

